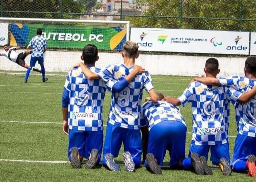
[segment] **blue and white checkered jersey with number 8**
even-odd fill
[[[134,66],[128,68],[123,64],[109,65],[97,74],[111,90],[113,85],[124,79],[133,68]],[[143,89],[149,92],[153,88],[152,79],[148,72],[137,74],[128,87],[121,92],[112,93],[108,122],[121,128],[139,129]]]

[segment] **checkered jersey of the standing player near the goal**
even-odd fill
[[[43,36],[35,36],[31,39],[28,46],[32,47],[32,57],[43,57],[44,47],[47,46],[47,41]]]

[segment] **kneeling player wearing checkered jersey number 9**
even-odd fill
[[[216,78],[220,72],[217,59],[207,59],[204,71],[207,78]],[[229,101],[233,99],[234,102],[247,102],[252,95],[249,98],[247,96],[231,87],[192,82],[179,98],[165,98],[175,106],[192,103],[193,134],[189,157],[181,161],[184,169],[190,170],[193,167],[197,174],[212,174],[207,166],[211,148],[212,164],[219,165],[223,175],[231,175],[228,144]]]

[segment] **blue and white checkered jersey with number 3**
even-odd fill
[[[100,69],[89,68],[94,73]],[[80,67],[68,72],[64,87],[69,91],[69,129],[81,131],[103,130],[103,100],[106,84],[103,80],[89,80]]]

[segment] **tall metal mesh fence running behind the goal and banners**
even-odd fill
[[[256,32],[256,0],[0,0],[1,17],[129,20],[131,26]]]

